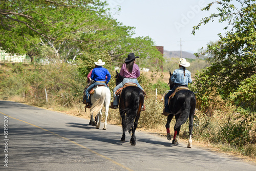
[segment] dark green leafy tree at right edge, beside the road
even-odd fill
[[[232,4],[236,2],[236,5]],[[209,10],[213,4],[219,5],[217,14],[211,14],[194,27],[193,34],[202,24],[214,19],[220,23],[227,22],[227,32],[219,34],[216,44],[207,45],[204,52],[197,55],[208,55],[212,62],[200,77],[196,85],[204,97],[212,92],[224,98],[241,91],[244,80],[251,78],[256,72],[256,4],[255,0],[223,0],[208,4],[203,10]],[[255,87],[253,88],[255,91]],[[248,97],[249,98],[249,97]],[[254,96],[251,96],[254,98]],[[251,99],[253,100],[253,99]]]

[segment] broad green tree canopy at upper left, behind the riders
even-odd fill
[[[163,60],[151,38],[132,38],[134,27],[113,19],[105,5],[99,0],[1,1],[0,46],[10,53],[26,53],[31,60],[34,55],[54,62],[88,53],[95,61],[102,52],[108,52],[117,66],[130,52]]]

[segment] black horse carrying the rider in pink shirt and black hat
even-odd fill
[[[123,76],[116,71],[116,86],[122,82]],[[121,141],[125,141],[125,132],[132,135],[131,145],[136,145],[135,130],[140,118],[141,108],[144,103],[144,92],[136,86],[123,88],[119,97],[119,112],[122,118],[123,135]]]

